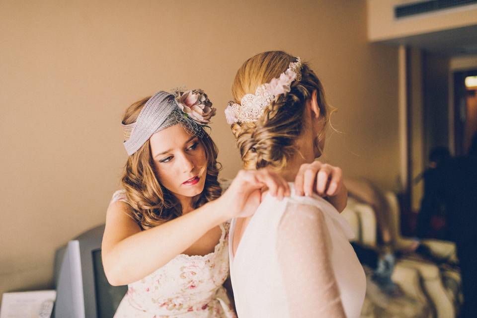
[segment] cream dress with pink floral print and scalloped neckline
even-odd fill
[[[127,203],[124,190],[111,202]],[[152,274],[128,284],[114,318],[236,318],[222,286],[229,275],[229,223],[205,256],[177,255]]]

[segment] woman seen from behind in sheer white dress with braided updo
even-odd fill
[[[292,181],[318,158],[330,110],[306,63],[282,51],[244,62],[226,109],[246,169],[268,167]],[[240,102],[240,103],[238,103]],[[340,173],[318,172],[319,193],[336,195]],[[326,182],[325,182],[326,183]],[[264,195],[255,214],[232,220],[230,271],[239,318],[357,318],[366,291],[352,231],[320,196]],[[342,195],[340,195],[342,197]]]

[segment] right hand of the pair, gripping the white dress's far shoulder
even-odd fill
[[[344,210],[348,199],[341,168],[318,160],[301,165],[295,178],[295,192],[300,196],[315,192],[325,197],[339,212]]]

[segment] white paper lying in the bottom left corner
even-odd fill
[[[55,299],[55,290],[3,293],[0,318],[38,318],[41,305]]]

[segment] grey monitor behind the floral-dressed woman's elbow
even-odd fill
[[[53,317],[112,318],[127,286],[108,283],[101,262],[104,225],[84,232],[55,255],[57,297]]]

